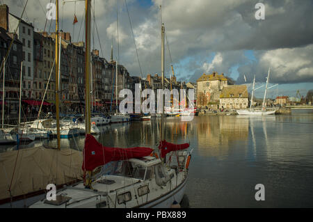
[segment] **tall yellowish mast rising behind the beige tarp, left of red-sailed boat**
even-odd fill
[[[59,44],[61,44],[61,42],[59,42],[59,38],[58,38],[58,0],[56,0],[56,134],[57,134],[57,139],[58,139],[58,150],[60,150],[60,107],[59,107],[59,54],[60,54],[60,51],[59,51]]]

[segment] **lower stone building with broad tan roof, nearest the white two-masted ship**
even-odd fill
[[[246,85],[225,86],[220,93],[220,109],[247,109],[248,91]]]

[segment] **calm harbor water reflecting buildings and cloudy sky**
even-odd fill
[[[166,118],[166,140],[190,143],[186,196],[190,207],[313,207],[313,110],[287,116]],[[97,140],[106,146],[157,149],[161,118],[106,125]],[[61,139],[83,150],[84,137]],[[40,144],[35,141],[20,148]],[[45,141],[56,145],[56,140]],[[16,146],[2,146],[1,152]],[[257,184],[265,200],[257,201]]]

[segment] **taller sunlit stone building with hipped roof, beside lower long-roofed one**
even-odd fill
[[[227,86],[227,78],[223,73],[202,74],[197,80],[197,106],[204,107],[207,104],[218,104],[220,93],[225,86]]]

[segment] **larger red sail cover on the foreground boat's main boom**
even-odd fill
[[[83,148],[83,171],[93,171],[110,161],[149,156],[151,148],[109,148],[103,146],[90,134],[86,134]]]

